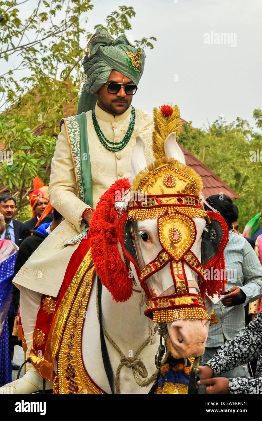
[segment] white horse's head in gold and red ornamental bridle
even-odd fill
[[[145,314],[155,323],[167,324],[167,344],[173,356],[201,356],[212,311],[210,302],[205,307],[201,264],[202,234],[210,219],[200,207],[200,176],[185,165],[175,132],[159,139],[163,135],[159,125],[167,125],[167,118],[158,109],[154,117],[157,159],[146,166],[143,140],[137,136],[131,197],[119,219],[120,242],[148,297]],[[179,123],[173,121],[173,125]]]

